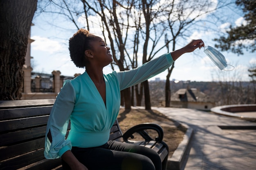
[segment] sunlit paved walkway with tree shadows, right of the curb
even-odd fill
[[[193,128],[184,170],[256,170],[255,128],[224,129],[228,126],[256,126],[256,123],[194,109],[152,109]]]

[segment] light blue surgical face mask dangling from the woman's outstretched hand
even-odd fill
[[[208,46],[204,49],[204,53],[211,58],[213,63],[219,67],[220,70],[225,69],[227,67],[227,61],[225,57],[215,48]]]

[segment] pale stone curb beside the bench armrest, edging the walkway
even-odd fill
[[[186,124],[180,123],[180,125],[186,128],[186,134],[184,134],[183,141],[178,145],[171,158],[168,158],[166,170],[181,170],[184,165],[185,157],[189,151],[189,141],[193,135],[193,129]]]

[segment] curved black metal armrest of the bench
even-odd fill
[[[158,133],[158,136],[155,139],[152,139],[145,130],[155,130]],[[142,124],[135,125],[132,128],[128,129],[123,134],[124,141],[127,141],[129,137],[133,139],[134,136],[132,134],[134,134],[134,133],[140,134],[145,139],[145,141],[162,142],[163,137],[164,137],[164,131],[160,125],[157,125],[155,123],[142,123]]]

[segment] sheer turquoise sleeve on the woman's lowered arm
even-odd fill
[[[70,115],[74,108],[75,91],[70,83],[67,83],[58,94],[46,128],[45,135],[45,158],[56,159],[67,150],[71,150],[72,144],[70,140],[65,139],[67,127],[70,121]],[[51,133],[52,141],[48,139],[47,134]]]

